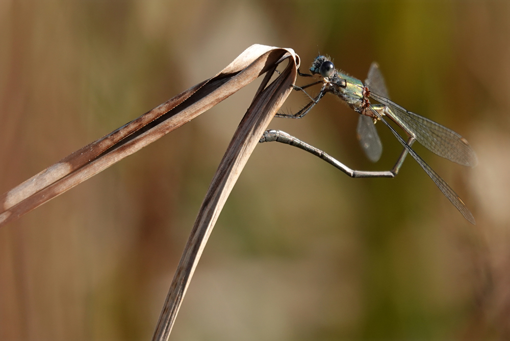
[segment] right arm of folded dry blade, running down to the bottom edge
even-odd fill
[[[175,272],[153,340],[168,339],[202,250],[228,194],[269,122],[291,92],[299,60],[294,54],[289,56],[292,57],[291,63],[267,88],[265,86],[274,68],[266,75],[221,160]]]

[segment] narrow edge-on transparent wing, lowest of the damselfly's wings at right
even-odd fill
[[[443,194],[448,198],[448,200],[453,204],[453,206],[455,206],[455,208],[462,213],[464,218],[466,218],[470,223],[474,225],[475,218],[468,210],[464,202],[461,200],[461,198],[457,195],[457,193],[455,193],[455,191],[451,189],[450,186],[448,186],[446,181],[441,179],[441,177],[436,172],[434,172],[433,169],[430,168],[430,166],[425,161],[423,161],[423,159],[418,154],[416,154],[416,152],[411,147],[409,147],[409,145],[405,143],[402,137],[400,137],[400,135],[395,131],[395,129],[393,129],[393,127],[388,122],[382,119],[382,117],[377,113],[377,111],[375,110],[372,111],[375,113],[377,118],[382,121],[382,123],[384,123],[386,126],[388,126],[388,128],[390,128],[391,132],[393,133],[393,135],[395,135],[400,144],[404,146],[407,152],[409,152],[409,154],[411,154],[411,156],[416,160],[416,162],[418,162],[418,164],[428,174],[432,181],[436,183],[441,192],[443,192]]]

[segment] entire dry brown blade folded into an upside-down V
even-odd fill
[[[286,59],[289,60],[286,69],[267,85],[276,66]],[[219,213],[260,137],[291,92],[298,66],[299,56],[292,49],[250,46],[216,76],[196,84],[3,194],[0,197],[0,226],[179,128],[266,73],[213,177],[172,280],[153,336],[155,340],[167,340]]]

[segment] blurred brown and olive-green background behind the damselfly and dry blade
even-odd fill
[[[466,137],[467,168],[416,145],[467,222],[411,158],[351,179],[257,147],[202,254],[171,340],[510,337],[507,1],[0,0],[0,192],[228,65],[253,43],[320,50]],[[307,81],[298,79],[297,84]],[[0,230],[0,339],[147,340],[209,182],[258,84]],[[315,91],[315,92],[314,92]],[[312,90],[317,93],[318,89]],[[282,110],[297,111],[293,94]],[[354,169],[401,146],[326,96],[283,129]]]

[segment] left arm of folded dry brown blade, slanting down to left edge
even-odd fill
[[[216,76],[44,169],[0,196],[0,226],[194,119],[274,67],[286,53],[286,49],[252,45]]]

